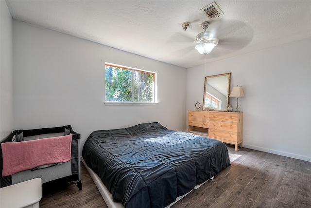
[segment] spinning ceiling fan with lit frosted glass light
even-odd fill
[[[192,27],[191,24],[192,22],[181,23],[183,32],[175,33],[168,41],[179,44],[178,46],[188,45],[175,50],[176,56],[188,56],[194,48],[200,54],[210,54],[209,57],[229,54],[232,51],[244,48],[252,40],[254,34],[253,29],[240,20],[223,18],[204,21],[201,24],[204,31],[199,34],[195,28],[200,27]],[[211,53],[211,51],[213,52]]]

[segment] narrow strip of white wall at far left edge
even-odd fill
[[[0,1],[0,141],[13,130],[13,20],[4,0]]]

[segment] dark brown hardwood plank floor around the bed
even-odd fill
[[[311,162],[227,145],[231,166],[171,208],[311,208]],[[83,189],[43,195],[40,208],[107,208],[81,163]]]

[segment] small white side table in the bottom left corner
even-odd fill
[[[41,178],[0,189],[0,208],[39,208],[42,197]]]

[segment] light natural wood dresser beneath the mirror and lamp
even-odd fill
[[[188,132],[242,147],[243,113],[188,111]]]

